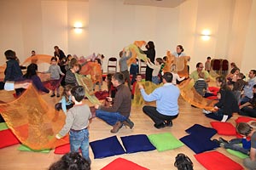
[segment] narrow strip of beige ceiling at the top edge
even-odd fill
[[[175,8],[186,0],[124,0],[124,4]]]

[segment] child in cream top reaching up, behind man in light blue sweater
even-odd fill
[[[154,63],[152,63],[150,61],[150,59],[147,60],[148,67],[153,69],[153,72],[152,72],[152,82],[154,82],[155,84],[159,84],[160,78],[158,77],[158,74],[159,74],[161,65],[163,64],[163,59],[156,58]]]

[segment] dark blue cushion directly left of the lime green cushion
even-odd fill
[[[154,145],[150,143],[148,136],[145,134],[125,136],[121,137],[121,139],[125,146],[126,153],[155,150]]]

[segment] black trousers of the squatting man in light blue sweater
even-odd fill
[[[164,121],[172,121],[172,119],[175,119],[177,117],[177,115],[176,116],[162,115],[160,114],[160,112],[156,111],[156,107],[150,106],[150,105],[145,105],[143,107],[143,112],[146,115],[148,115],[155,124],[160,124]]]

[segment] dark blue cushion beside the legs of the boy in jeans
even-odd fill
[[[90,142],[90,147],[95,159],[125,154],[116,136]]]

